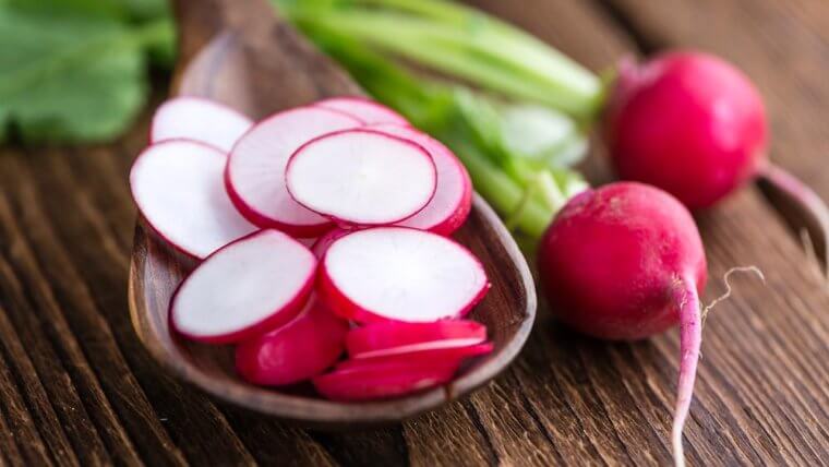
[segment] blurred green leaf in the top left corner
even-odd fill
[[[10,125],[24,141],[120,134],[146,97],[142,47],[156,29],[0,5],[0,141]]]

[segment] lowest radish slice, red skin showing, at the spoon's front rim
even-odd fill
[[[334,400],[370,400],[399,397],[438,386],[452,380],[452,366],[360,366],[314,378],[314,387]]]

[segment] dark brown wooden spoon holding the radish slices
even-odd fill
[[[359,95],[333,62],[278,20],[264,0],[181,0],[173,94],[208,97],[253,118],[326,96]],[[170,333],[168,303],[194,267],[143,221],[135,228],[129,301],[133,326],[149,352],[172,373],[219,399],[317,428],[399,421],[458,398],[504,370],[527,339],[536,291],[524,256],[492,208],[478,195],[455,238],[485,264],[493,287],[471,318],[486,324],[495,351],[443,387],[405,398],[346,404],[310,387],[267,388],[243,382],[232,349],[193,344]]]

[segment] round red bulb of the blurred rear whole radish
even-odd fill
[[[698,51],[623,63],[605,131],[620,177],[659,187],[692,209],[716,203],[766,163],[759,93],[736,68]]]

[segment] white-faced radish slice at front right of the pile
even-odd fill
[[[433,322],[466,314],[490,284],[469,250],[407,227],[351,232],[325,253],[319,291],[329,308],[359,323]]]

